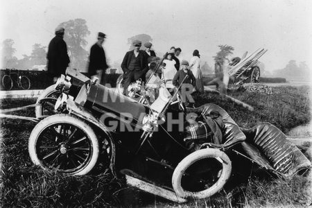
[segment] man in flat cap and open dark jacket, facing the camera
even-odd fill
[[[147,54],[141,51],[142,42],[135,40],[132,45],[135,47],[132,51],[125,53],[121,69],[123,69],[124,89],[123,94],[128,96],[128,86],[141,78],[145,81],[145,74],[148,71]]]

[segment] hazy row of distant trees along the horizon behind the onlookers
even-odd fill
[[[87,67],[87,61],[89,53],[85,50],[87,46],[87,40],[85,38],[90,35],[87,21],[85,19],[71,19],[69,21],[62,22],[59,26],[65,28],[64,40],[67,42],[67,48],[69,58],[71,59],[71,67],[85,71]],[[132,50],[132,41],[141,40],[142,43],[152,42],[153,39],[150,35],[139,34],[128,38],[129,50]],[[32,69],[34,65],[46,64],[46,51],[47,47],[42,44],[33,44],[31,55],[23,55],[23,58],[17,59],[15,56],[16,49],[14,48],[14,40],[6,39],[1,43],[1,69]],[[219,45],[219,51],[213,57],[215,62],[223,62],[228,60],[229,56],[233,54],[234,47],[229,45]],[[156,51],[158,56],[164,55],[163,53]],[[120,62],[114,61],[110,63],[107,60],[110,67],[120,68]],[[306,77],[306,73],[309,73],[309,67],[305,62],[300,62],[299,66],[295,60],[290,60],[284,69],[279,69],[273,72],[265,71],[264,64],[261,63],[261,71],[265,76],[279,76],[286,78],[301,78]],[[216,73],[212,67],[205,61],[202,61],[202,73],[204,75]]]

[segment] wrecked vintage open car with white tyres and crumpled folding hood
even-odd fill
[[[285,177],[311,166],[274,125],[239,128],[218,105],[186,108],[162,84],[153,103],[140,103],[70,69],[40,99],[44,119],[28,150],[47,171],[85,175],[101,162],[132,186],[186,202],[223,188],[233,153]]]

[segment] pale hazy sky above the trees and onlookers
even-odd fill
[[[289,60],[306,61],[312,69],[312,1],[4,1],[0,6],[0,41],[15,41],[15,54],[31,54],[35,43],[47,46],[58,24],[87,21],[89,48],[99,31],[107,34],[105,53],[111,61],[128,51],[128,37],[145,33],[156,51],[180,47],[189,60],[198,49],[213,65],[219,44],[234,46],[234,56],[258,48],[266,70],[284,68]],[[84,66],[85,67],[85,66]]]

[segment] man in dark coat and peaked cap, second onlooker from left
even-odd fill
[[[98,83],[101,85],[105,85],[105,71],[108,68],[105,51],[102,46],[105,36],[104,33],[98,33],[98,41],[90,49],[88,67],[89,76],[92,79],[98,78]]]

